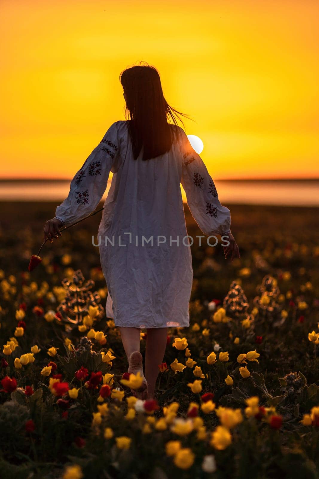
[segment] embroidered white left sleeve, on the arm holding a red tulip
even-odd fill
[[[112,166],[118,160],[117,123],[113,123],[99,145],[85,160],[70,184],[67,198],[57,206],[55,217],[68,226],[88,216],[99,205]]]

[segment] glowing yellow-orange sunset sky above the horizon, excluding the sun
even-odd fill
[[[319,2],[2,0],[1,178],[69,179],[141,60],[215,179],[319,177]],[[317,23],[317,24],[316,24]]]

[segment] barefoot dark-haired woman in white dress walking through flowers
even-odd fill
[[[62,225],[93,212],[112,171],[99,225],[107,316],[121,332],[128,372],[143,375],[140,329],[147,329],[138,396],[150,399],[167,328],[189,326],[193,270],[180,183],[203,233],[227,235],[224,251],[231,260],[239,257],[239,250],[230,231],[230,211],[220,204],[205,164],[177,125],[175,114],[180,112],[166,103],[156,68],[134,66],[120,80],[129,121],[113,123],[77,171],[68,197],[45,225],[44,239],[58,238]],[[169,117],[174,124],[167,122]]]

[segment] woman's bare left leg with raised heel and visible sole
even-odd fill
[[[137,396],[140,399],[146,399],[147,397],[147,382],[143,373],[143,357],[140,353],[140,337],[141,330],[140,328],[126,328],[119,327],[121,333],[121,340],[127,356],[129,367],[127,372],[136,374],[138,371],[143,376],[142,387],[136,391],[132,390],[132,394]]]

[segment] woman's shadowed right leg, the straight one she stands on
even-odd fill
[[[145,377],[148,399],[154,398],[158,365],[162,364],[167,342],[167,328],[148,328],[146,333]]]

